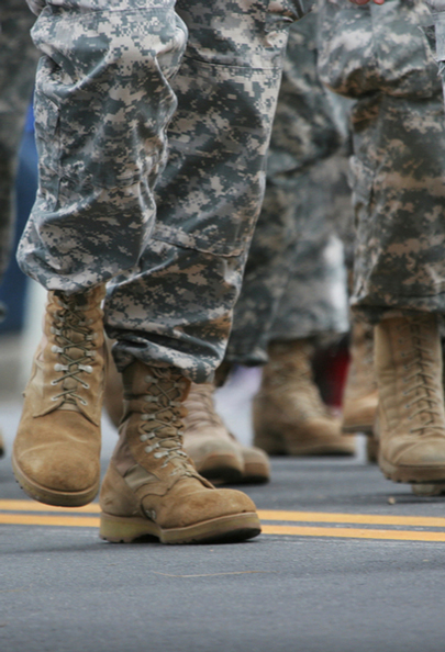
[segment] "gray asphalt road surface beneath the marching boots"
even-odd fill
[[[256,379],[237,383],[219,405],[248,441]],[[9,451],[19,416],[16,397],[0,401]],[[105,466],[115,434],[107,419],[103,428]],[[96,527],[0,520],[0,651],[444,652],[445,502],[386,481],[360,451],[274,459],[270,484],[243,488],[275,533],[245,543],[119,546],[100,541]],[[7,501],[27,514],[14,503],[23,499],[8,454],[0,518]],[[364,530],[390,538],[360,538]],[[425,540],[391,539],[404,532]],[[443,541],[427,540],[437,533]]]

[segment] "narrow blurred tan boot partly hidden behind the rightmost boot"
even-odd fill
[[[351,364],[343,397],[342,430],[372,435],[378,405],[374,370],[374,328],[353,321]]]

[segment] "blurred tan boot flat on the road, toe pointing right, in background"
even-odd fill
[[[305,339],[274,342],[253,404],[254,442],[269,454],[351,456],[355,441],[341,434],[313,382]]]

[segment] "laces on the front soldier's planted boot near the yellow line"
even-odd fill
[[[148,442],[145,447],[146,453],[153,453],[155,459],[163,459],[164,469],[169,462],[188,460],[187,453],[182,450],[182,418],[186,409],[181,402],[183,392],[183,380],[178,374],[175,378],[170,370],[162,368],[151,369],[151,374],[145,376],[149,393],[144,396],[147,404],[141,414],[142,435],[141,441]],[[170,475],[183,472],[182,468],[171,471]]]

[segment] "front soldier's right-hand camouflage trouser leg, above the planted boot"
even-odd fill
[[[173,81],[178,110],[156,187],[154,239],[108,300],[121,368],[138,357],[180,367],[199,382],[222,360],[263,199],[292,7],[286,0],[274,11],[263,0],[234,2],[231,12],[221,0],[204,11],[177,5],[189,42]]]

